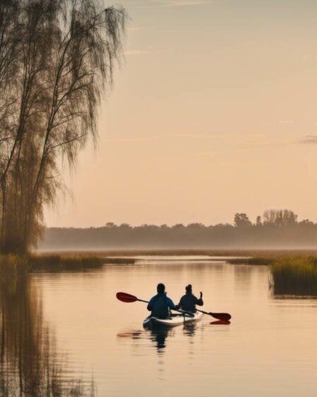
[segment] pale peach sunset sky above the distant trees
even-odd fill
[[[317,1],[118,0],[125,61],[47,226],[317,221]],[[107,5],[112,4],[110,1]]]

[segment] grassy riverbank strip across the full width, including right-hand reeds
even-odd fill
[[[233,265],[265,265],[272,272],[272,291],[317,296],[316,250],[112,250],[0,255],[0,278],[33,272],[87,272],[105,264],[134,264],[139,257],[207,256]]]

